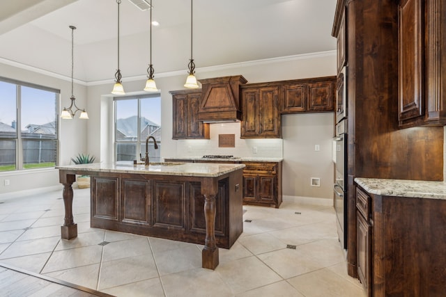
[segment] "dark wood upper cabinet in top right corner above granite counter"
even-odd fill
[[[400,0],[399,127],[446,125],[446,3]]]

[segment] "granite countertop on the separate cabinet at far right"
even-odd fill
[[[365,191],[376,195],[446,200],[446,184],[444,182],[360,177],[355,178],[355,182]]]

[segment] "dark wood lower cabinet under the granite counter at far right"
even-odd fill
[[[357,274],[367,296],[446,296],[446,200],[356,188]]]

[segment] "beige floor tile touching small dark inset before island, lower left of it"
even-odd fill
[[[102,246],[84,246],[70,250],[56,250],[43,268],[43,273],[66,270],[80,266],[98,264],[101,261]]]

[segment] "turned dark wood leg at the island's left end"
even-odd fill
[[[61,238],[72,239],[77,237],[77,224],[72,216],[72,183],[75,182],[76,175],[69,175],[59,171],[59,181],[63,184],[63,205],[65,207],[65,218],[61,226]]]

